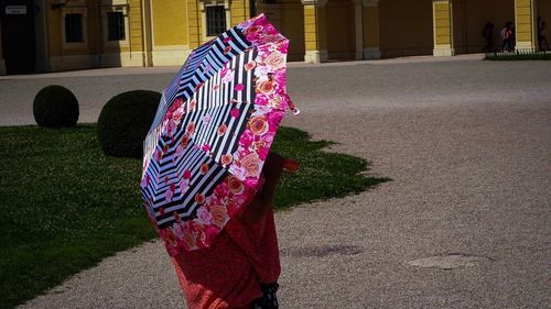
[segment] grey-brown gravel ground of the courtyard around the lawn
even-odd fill
[[[0,124],[32,122],[46,84],[74,89],[89,122],[106,98],[169,78],[0,80]],[[289,91],[302,113],[288,125],[395,180],[278,213],[282,308],[551,308],[551,63],[298,66]],[[147,243],[22,308],[183,306]]]

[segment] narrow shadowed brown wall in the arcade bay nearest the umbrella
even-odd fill
[[[355,57],[355,13],[350,0],[327,2],[327,53],[329,59],[353,59]]]

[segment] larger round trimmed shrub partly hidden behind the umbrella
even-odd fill
[[[111,98],[98,119],[98,139],[106,155],[143,156],[143,140],[155,117],[161,93],[132,90]]]

